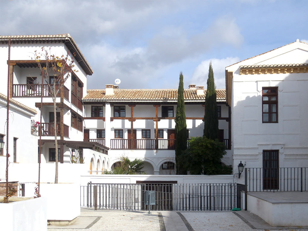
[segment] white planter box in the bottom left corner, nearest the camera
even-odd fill
[[[17,197],[19,198],[19,197]],[[11,197],[15,202],[0,203],[1,230],[47,231],[47,198],[21,197],[22,201]]]

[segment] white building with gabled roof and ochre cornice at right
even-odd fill
[[[225,71],[233,169],[240,161],[245,168],[307,167],[308,44],[297,40]]]

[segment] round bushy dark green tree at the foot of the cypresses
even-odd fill
[[[218,140],[211,140],[205,136],[191,137],[189,148],[180,156],[179,160],[185,170],[192,175],[224,174],[221,158],[226,154],[225,145]]]

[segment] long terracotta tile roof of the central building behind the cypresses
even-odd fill
[[[114,95],[105,95],[105,90],[87,90],[83,101],[177,101],[176,89],[114,89]],[[217,89],[217,100],[225,101],[225,89]],[[185,101],[204,101],[204,95],[197,95],[196,89],[184,89]]]

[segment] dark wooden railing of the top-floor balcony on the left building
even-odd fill
[[[12,97],[41,97],[41,87],[41,84],[13,84]],[[43,84],[43,97],[51,97],[50,92],[51,87]],[[60,97],[60,92],[57,97]],[[69,89],[65,86],[64,98],[69,100]]]

